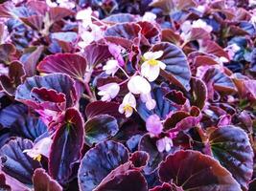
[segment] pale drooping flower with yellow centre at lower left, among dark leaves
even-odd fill
[[[32,149],[26,149],[23,153],[26,153],[30,158],[41,160],[42,155],[49,158],[50,147],[53,143],[52,138],[42,138],[35,143]]]

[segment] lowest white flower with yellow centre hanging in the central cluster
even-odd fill
[[[126,117],[130,117],[132,115],[133,109],[136,110],[136,98],[131,93],[128,93],[124,97],[122,104],[118,108],[118,111],[121,114],[125,113]]]

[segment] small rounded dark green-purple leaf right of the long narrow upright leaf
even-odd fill
[[[115,117],[99,115],[89,118],[85,123],[85,142],[92,146],[105,139],[111,138],[118,132],[118,124]]]

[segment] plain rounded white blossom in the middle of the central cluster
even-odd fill
[[[149,94],[151,92],[151,84],[140,75],[130,77],[128,81],[128,91],[134,95]]]

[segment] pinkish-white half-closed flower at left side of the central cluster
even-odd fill
[[[117,96],[120,91],[120,87],[117,83],[105,84],[98,89],[100,90],[98,95],[102,96],[102,101],[110,101],[112,98]]]

